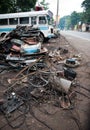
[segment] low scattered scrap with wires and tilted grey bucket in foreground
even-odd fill
[[[67,50],[64,50],[64,52],[66,53]],[[4,54],[7,55],[8,53]],[[58,52],[58,56],[59,54]],[[24,58],[20,51],[19,53],[15,51],[15,55]],[[28,54],[25,55],[28,56]],[[49,57],[52,58],[52,55],[49,55]],[[72,85],[77,75],[76,72],[70,68],[64,68],[62,72],[57,71],[54,66],[52,67],[53,64],[49,60],[42,59],[43,56],[40,56],[34,63],[25,66],[14,78],[8,80],[9,87],[4,91],[4,100],[0,102],[0,111],[5,114],[9,126],[12,128],[19,128],[24,123],[25,118],[27,118],[26,114],[33,110],[32,108],[36,103],[51,102],[63,109],[72,109],[74,107],[76,93],[73,91]],[[31,71],[32,68],[33,71]],[[23,73],[24,71],[26,73]],[[11,117],[9,117],[9,114],[11,114]],[[18,121],[18,117],[23,119],[19,118]]]

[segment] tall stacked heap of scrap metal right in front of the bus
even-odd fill
[[[31,55],[45,54],[47,49],[42,48],[39,34],[40,30],[31,26],[17,26],[6,34],[0,39],[0,64],[23,66],[35,61]]]

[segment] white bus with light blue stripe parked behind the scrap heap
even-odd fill
[[[12,31],[17,25],[38,27],[42,39],[54,37],[53,13],[50,10],[0,14],[0,34]]]

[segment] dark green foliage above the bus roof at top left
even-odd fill
[[[0,14],[30,11],[37,0],[0,0]]]

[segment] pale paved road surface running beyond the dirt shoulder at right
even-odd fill
[[[78,52],[85,55],[86,60],[90,61],[90,33],[76,31],[61,31],[69,43],[75,47]]]

